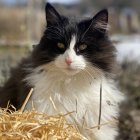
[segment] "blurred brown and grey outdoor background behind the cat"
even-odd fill
[[[127,95],[121,105],[117,140],[140,140],[140,0],[48,0],[67,16],[109,10],[109,35],[118,50],[116,82]],[[0,85],[39,42],[46,26],[46,0],[0,0]]]

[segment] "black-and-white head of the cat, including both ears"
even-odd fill
[[[62,16],[48,3],[46,20],[46,30],[33,53],[37,66],[51,62],[67,75],[91,69],[112,72],[115,48],[107,36],[107,10],[76,20]]]

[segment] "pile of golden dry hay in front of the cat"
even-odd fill
[[[24,111],[32,92],[19,111],[13,106],[14,111],[9,106],[0,109],[0,140],[87,140],[75,125],[67,123],[65,117],[73,112],[48,116],[34,109]]]

